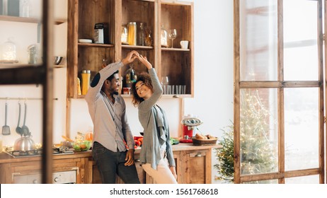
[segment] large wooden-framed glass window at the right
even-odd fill
[[[323,2],[234,6],[234,182],[323,183]]]

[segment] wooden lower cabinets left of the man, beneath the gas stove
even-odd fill
[[[50,183],[87,183],[91,151],[52,156]],[[0,153],[0,183],[40,183],[42,161],[40,156],[13,158]]]

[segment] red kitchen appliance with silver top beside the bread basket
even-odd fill
[[[202,120],[200,120],[197,117],[193,116],[187,116],[184,117],[183,120],[181,121],[181,124],[183,126],[183,137],[180,139],[180,143],[192,143],[192,137],[194,136],[193,132],[195,127],[199,126],[202,124]]]

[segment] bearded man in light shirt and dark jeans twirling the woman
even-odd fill
[[[116,174],[125,183],[139,183],[134,164],[134,139],[127,122],[125,101],[118,95],[118,69],[138,56],[136,51],[132,51],[121,62],[105,66],[94,76],[86,93],[88,112],[94,125],[92,156],[103,183],[114,184]]]

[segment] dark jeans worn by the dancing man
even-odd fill
[[[127,151],[113,152],[102,146],[97,141],[92,147],[92,156],[96,161],[103,184],[115,184],[116,174],[125,184],[139,184],[139,177],[135,164],[126,166]]]

